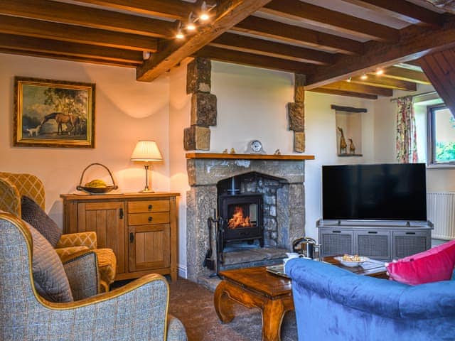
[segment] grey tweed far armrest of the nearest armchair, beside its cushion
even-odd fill
[[[62,259],[63,269],[70,282],[74,301],[95,296],[98,293],[99,278],[97,254],[88,249],[70,254]]]

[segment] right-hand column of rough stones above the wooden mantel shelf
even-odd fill
[[[305,151],[305,82],[306,76],[294,74],[294,102],[287,104],[289,130],[294,131],[294,151]]]

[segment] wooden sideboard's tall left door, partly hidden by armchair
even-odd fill
[[[77,204],[79,232],[97,232],[98,248],[108,247],[117,257],[117,274],[125,272],[125,228],[123,202]]]

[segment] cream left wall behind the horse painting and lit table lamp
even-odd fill
[[[96,83],[95,148],[13,147],[14,76]],[[60,193],[71,193],[90,163],[107,166],[122,192],[144,188],[144,166],[129,158],[139,139],[154,139],[164,161],[154,164],[153,188],[169,190],[168,78],[137,82],[134,69],[0,54],[0,170],[43,180],[46,210],[62,226]],[[92,168],[90,168],[92,170]],[[87,177],[109,179],[103,168]]]

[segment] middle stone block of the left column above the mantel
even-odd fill
[[[195,92],[191,97],[191,125],[216,126],[216,96]]]

